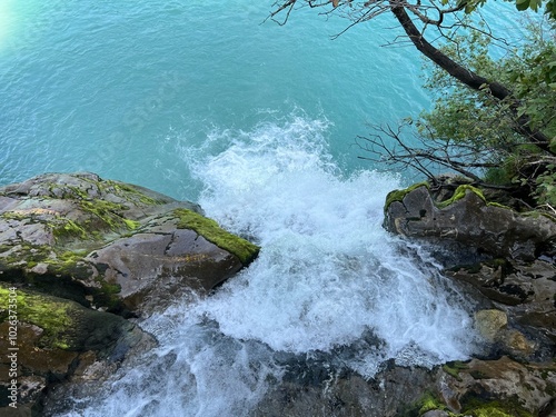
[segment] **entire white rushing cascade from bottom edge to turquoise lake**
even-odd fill
[[[207,216],[260,256],[210,297],[141,322],[159,347],[66,416],[244,416],[279,383],[285,357],[329,353],[335,367],[370,378],[391,358],[431,366],[471,354],[464,298],[424,250],[381,228],[399,180],[342,176],[326,129],[291,117],[177,149],[206,187]]]

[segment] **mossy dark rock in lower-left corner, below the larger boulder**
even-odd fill
[[[79,378],[76,369],[86,364],[101,363],[113,371],[131,348],[155,344],[122,317],[23,288],[9,289],[1,282],[0,319],[0,350],[4,353],[0,389],[17,388],[18,413],[38,413],[47,390]],[[1,415],[14,413],[11,403],[0,403]]]

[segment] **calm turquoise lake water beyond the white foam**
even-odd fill
[[[346,20],[300,10],[280,27],[264,22],[265,2],[2,4],[1,183],[89,170],[195,199],[185,148],[212,138],[218,151],[230,135],[298,117],[326,123],[330,153],[351,172],[369,167],[354,147],[367,122],[428,105],[418,53],[381,47],[397,33],[377,29],[389,19],[330,40]]]

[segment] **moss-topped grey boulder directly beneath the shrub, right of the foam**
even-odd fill
[[[468,185],[441,202],[434,201],[426,185],[393,191],[384,226],[401,236],[451,240],[494,258],[518,260],[536,259],[556,237],[553,218],[487,202],[480,190]]]

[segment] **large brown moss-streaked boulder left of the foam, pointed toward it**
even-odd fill
[[[0,188],[0,280],[86,307],[146,315],[185,288],[210,290],[258,250],[197,205],[93,173]]]

